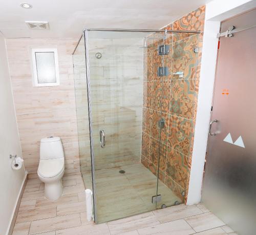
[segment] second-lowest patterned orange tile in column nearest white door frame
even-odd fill
[[[181,187],[186,188],[189,173],[187,157],[168,147],[166,174]]]

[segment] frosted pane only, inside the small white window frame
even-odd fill
[[[38,83],[56,83],[54,52],[36,52],[35,60]]]

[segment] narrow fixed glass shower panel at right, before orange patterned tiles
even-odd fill
[[[162,80],[161,137],[157,208],[184,203],[190,174],[198,91],[200,34],[167,34],[163,55],[168,75]]]

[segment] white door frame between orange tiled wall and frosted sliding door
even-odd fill
[[[206,4],[197,117],[187,205],[201,201],[205,154],[218,53],[219,39],[217,38],[217,33],[220,32],[220,26],[223,20],[249,11],[255,7],[256,0],[213,0]]]

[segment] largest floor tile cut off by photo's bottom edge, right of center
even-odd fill
[[[161,235],[188,235],[195,231],[186,223],[185,220],[175,220],[146,228],[138,229],[140,235],[161,234]]]

